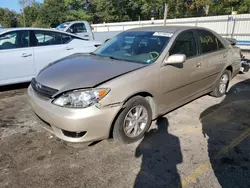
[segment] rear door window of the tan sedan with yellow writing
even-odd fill
[[[211,32],[205,30],[197,30],[197,33],[199,36],[202,54],[218,50],[217,38]]]

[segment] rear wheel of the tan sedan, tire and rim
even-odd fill
[[[210,94],[214,97],[222,97],[227,91],[230,79],[231,72],[229,70],[225,70]]]

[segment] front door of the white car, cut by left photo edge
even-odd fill
[[[0,35],[0,85],[30,81],[35,75],[29,31]]]

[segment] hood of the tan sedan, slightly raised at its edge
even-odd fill
[[[44,68],[36,81],[59,91],[91,88],[146,65],[75,54]]]

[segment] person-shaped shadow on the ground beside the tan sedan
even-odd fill
[[[182,162],[178,137],[168,132],[168,120],[157,120],[157,129],[150,130],[136,148],[135,157],[142,157],[141,169],[134,188],[181,187],[177,164]]]

